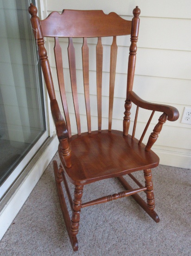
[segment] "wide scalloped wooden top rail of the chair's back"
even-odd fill
[[[52,12],[41,20],[41,28],[48,37],[102,37],[131,34],[131,23],[116,13],[101,10],[63,10],[62,14]]]

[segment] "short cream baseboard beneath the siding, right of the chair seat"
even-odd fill
[[[179,168],[190,169],[191,168],[191,155],[172,152],[162,149],[155,149],[152,150],[159,156],[160,164],[174,166]]]

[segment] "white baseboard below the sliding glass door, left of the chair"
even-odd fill
[[[37,156],[35,164],[33,164],[28,174],[0,211],[0,240],[44,173],[46,167],[51,162],[51,159],[56,154],[57,147],[58,140],[57,136],[55,136],[43,152],[39,150],[40,155]]]

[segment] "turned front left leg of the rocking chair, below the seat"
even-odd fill
[[[76,237],[79,230],[80,222],[80,210],[82,207],[82,195],[83,195],[83,185],[75,185],[74,189],[74,200],[73,200],[73,213],[71,217],[71,236]]]

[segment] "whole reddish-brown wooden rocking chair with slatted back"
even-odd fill
[[[166,105],[153,104],[143,101],[133,91],[134,70],[137,51],[137,40],[139,31],[140,9],[136,7],[133,11],[132,21],[124,20],[116,13],[104,14],[102,11],[77,11],[64,10],[62,14],[51,13],[45,20],[39,20],[37,8],[31,4],[29,13],[32,15],[31,23],[38,43],[38,54],[43,70],[46,87],[51,102],[51,112],[56,126],[57,137],[59,140],[60,167],[53,161],[57,191],[60,200],[61,209],[64,216],[65,225],[70,237],[70,242],[74,251],[78,249],[76,235],[79,229],[81,208],[109,202],[122,197],[131,195],[136,202],[153,218],[159,222],[159,216],[154,211],[154,195],[151,168],[158,166],[159,157],[150,150],[157,140],[166,119],[176,121],[179,113],[176,108]],[[131,35],[130,53],[128,57],[127,71],[127,94],[124,95],[125,112],[123,119],[123,132],[112,130],[112,113],[115,85],[115,69],[117,58],[116,36]],[[102,130],[102,59],[103,47],[102,37],[113,37],[113,43],[110,50],[110,80],[109,80],[109,106],[108,106],[108,130]],[[60,96],[64,108],[64,116],[60,113],[54,91],[54,85],[51,76],[47,53],[44,46],[44,37],[54,37],[55,61],[57,68],[57,78],[60,89]],[[64,87],[64,74],[62,52],[59,45],[59,37],[69,38],[68,60],[70,68],[71,89],[73,95],[74,109],[76,114],[77,135],[71,134],[69,111],[66,101]],[[97,84],[97,112],[98,112],[98,130],[91,131],[90,115],[90,97],[89,97],[89,47],[87,38],[98,38],[96,46],[96,84]],[[83,83],[87,114],[88,131],[81,133],[80,114],[78,106],[77,86],[76,86],[76,60],[75,49],[72,38],[83,38],[82,64],[83,64]],[[122,65],[122,64],[121,64]],[[132,135],[128,135],[130,125],[130,109],[132,102],[137,106],[134,119],[134,128]],[[139,108],[152,110],[152,114],[146,124],[140,140],[135,139],[135,128]],[[146,130],[152,120],[155,111],[162,112],[158,124],[154,127],[146,146],[142,143]],[[123,115],[121,113],[121,115]],[[143,186],[133,175],[135,171],[144,171],[145,186]],[[133,189],[123,175],[129,175],[138,185],[138,189]],[[66,176],[74,184],[74,199],[72,200]],[[126,189],[114,195],[107,195],[90,202],[82,203],[83,186],[102,179],[117,177]],[[109,181],[109,180],[108,180]],[[72,217],[68,213],[64,194],[61,186],[64,186],[70,201]],[[145,202],[137,193],[144,191],[147,202]]]

